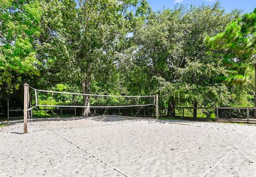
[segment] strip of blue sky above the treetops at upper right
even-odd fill
[[[212,5],[217,0],[148,0],[151,8],[154,11],[161,10],[165,8],[172,9],[175,4],[193,4],[201,5],[202,3],[206,5]],[[226,9],[227,12],[230,12],[234,9],[243,10],[243,13],[252,12],[256,8],[256,0],[219,0],[221,6]]]

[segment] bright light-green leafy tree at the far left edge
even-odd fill
[[[40,34],[38,1],[0,1],[1,96],[18,89],[24,78],[38,75],[36,39]]]

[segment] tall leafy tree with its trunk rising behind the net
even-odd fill
[[[51,74],[80,82],[91,93],[92,80],[111,68],[115,52],[129,29],[149,8],[146,1],[50,1],[42,3],[42,61]],[[133,9],[129,11],[129,9]],[[135,11],[135,14],[134,14]],[[143,18],[142,18],[143,19]],[[90,96],[84,96],[84,116],[90,113]]]

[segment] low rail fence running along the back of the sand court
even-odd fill
[[[9,104],[9,103],[8,103]],[[45,117],[45,116],[78,116],[82,115],[83,108],[41,108],[34,109],[30,116]],[[210,118],[216,121],[241,121],[241,122],[256,122],[254,112],[256,107],[175,107],[175,117],[179,118]],[[7,119],[23,119],[23,109],[7,110]],[[110,108],[91,108],[92,115],[131,115],[131,116],[155,116],[155,107],[110,107]],[[169,117],[170,108],[159,107],[159,115]]]

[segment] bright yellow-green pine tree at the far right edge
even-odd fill
[[[220,54],[223,64],[233,70],[233,82],[246,81],[246,65],[254,67],[256,78],[256,9],[244,14],[238,20],[230,22],[223,32],[213,37],[206,37],[211,52]],[[225,78],[228,79],[228,78]],[[254,83],[254,106],[256,106],[256,80]],[[256,117],[256,111],[254,111]]]

